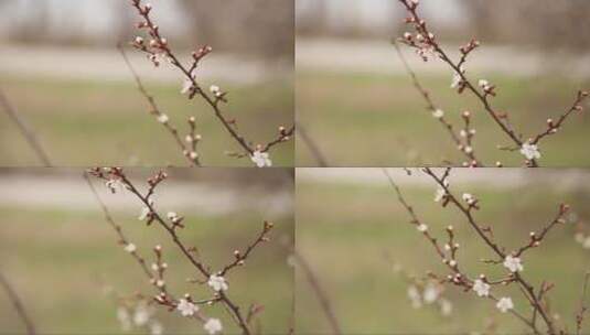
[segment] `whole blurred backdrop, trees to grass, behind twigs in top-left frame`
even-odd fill
[[[294,4],[292,0],[154,0],[162,34],[186,62],[205,44],[203,86],[229,91],[228,118],[251,141],[266,142],[293,119]],[[60,165],[184,164],[172,138],[148,114],[116,50],[138,34],[138,14],[120,0],[0,0],[0,87],[37,129]],[[226,158],[238,148],[199,99],[180,95],[182,76],[128,51],[132,65],[171,121],[195,115],[206,165],[251,165]],[[36,163],[9,119],[0,115],[0,163]],[[184,130],[183,130],[184,132]],[[155,150],[154,150],[155,149]],[[293,144],[273,151],[292,165]]]

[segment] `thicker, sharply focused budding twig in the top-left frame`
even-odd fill
[[[182,93],[187,94],[190,99],[199,95],[211,107],[217,120],[243,150],[243,153],[234,154],[235,156],[242,158],[247,155],[259,168],[270,166],[271,162],[268,158],[268,150],[280,142],[289,141],[292,137],[293,129],[286,130],[286,128],[281,126],[279,127],[277,139],[271,140],[266,144],[253,145],[238,132],[236,120],[225,117],[221,109],[221,105],[227,102],[227,93],[223,91],[218,86],[212,85],[210,87],[211,95],[208,95],[196,82],[195,71],[200,62],[212,52],[212,47],[208,45],[201,47],[192,54],[191,65],[183,65],[170,48],[168,40],[161,36],[160,28],[152,21],[150,17],[152,10],[151,4],[142,4],[141,0],[131,0],[131,4],[143,19],[143,21],[138,24],[138,29],[146,29],[150,35],[149,43],[138,36],[132,45],[137,50],[146,53],[155,66],[160,65],[160,58],[163,57],[183,74],[185,82]]]

